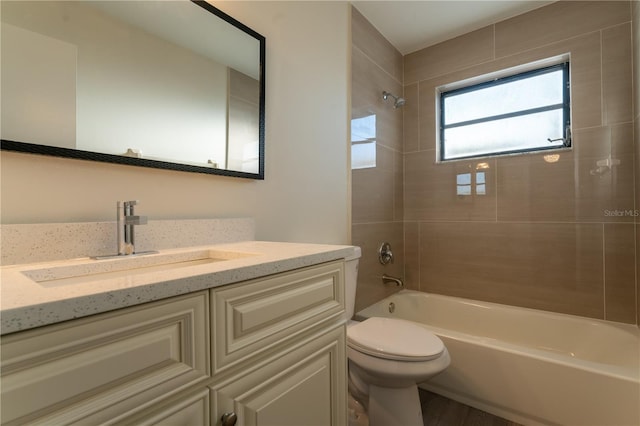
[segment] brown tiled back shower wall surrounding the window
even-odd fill
[[[404,57],[409,287],[637,322],[632,9],[556,2]],[[566,53],[571,150],[436,163],[438,86]],[[477,173],[486,191],[457,195],[456,177]]]

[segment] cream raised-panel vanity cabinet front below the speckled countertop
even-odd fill
[[[0,420],[345,425],[343,312],[339,260],[4,335]]]

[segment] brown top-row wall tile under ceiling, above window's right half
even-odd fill
[[[627,1],[559,1],[495,25],[496,57],[631,20]]]

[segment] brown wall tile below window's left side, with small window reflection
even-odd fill
[[[437,164],[433,150],[405,154],[405,220],[495,220],[495,170],[494,160]],[[465,175],[472,179],[466,187],[459,184]]]

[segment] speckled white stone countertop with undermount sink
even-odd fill
[[[161,250],[160,256],[185,252],[226,252],[218,262],[193,262],[177,268],[132,270],[71,279],[51,279],[47,271],[94,268],[129,259],[90,258],[3,266],[0,285],[1,334],[54,324],[153,300],[191,293],[306,266],[348,258],[353,246],[248,241],[230,244]],[[237,254],[237,257],[234,256]],[[141,256],[137,259],[153,259]],[[215,256],[213,256],[215,257]],[[107,268],[107,269],[105,269]],[[55,274],[54,274],[55,275]],[[35,279],[34,279],[35,277]]]

